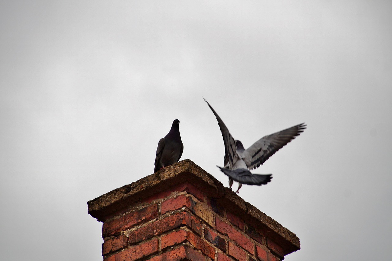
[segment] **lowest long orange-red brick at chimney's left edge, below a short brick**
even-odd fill
[[[118,252],[113,256],[105,259],[105,261],[135,261],[142,257],[149,256],[158,252],[158,238],[152,239],[140,245],[131,246],[124,251]]]

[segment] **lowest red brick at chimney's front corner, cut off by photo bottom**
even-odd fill
[[[199,252],[196,252],[188,245],[181,245],[178,248],[169,250],[168,252],[165,252],[159,256],[154,256],[149,259],[149,261],[181,261],[184,259],[192,261],[205,261],[205,256]]]

